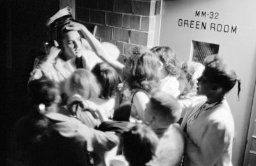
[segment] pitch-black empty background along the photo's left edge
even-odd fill
[[[15,165],[12,156],[13,126],[28,112],[27,82],[35,57],[49,40],[45,22],[58,11],[58,0],[4,0],[1,5],[1,158],[0,165]],[[6,158],[8,163],[6,163]]]

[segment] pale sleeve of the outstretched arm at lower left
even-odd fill
[[[119,139],[112,132],[100,132],[80,123],[79,121],[65,121],[52,125],[52,129],[62,137],[74,139],[75,142],[86,147],[87,151],[109,151],[118,145]]]

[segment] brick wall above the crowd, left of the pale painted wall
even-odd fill
[[[114,43],[121,55],[158,44],[160,11],[161,0],[76,0],[76,20],[96,25],[96,38]]]

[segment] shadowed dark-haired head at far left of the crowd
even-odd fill
[[[49,106],[58,100],[60,91],[53,80],[38,79],[28,83],[29,97],[32,105]]]

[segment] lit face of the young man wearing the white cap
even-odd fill
[[[81,36],[77,31],[68,31],[64,34],[62,42],[63,52],[67,59],[82,56],[82,41]]]

